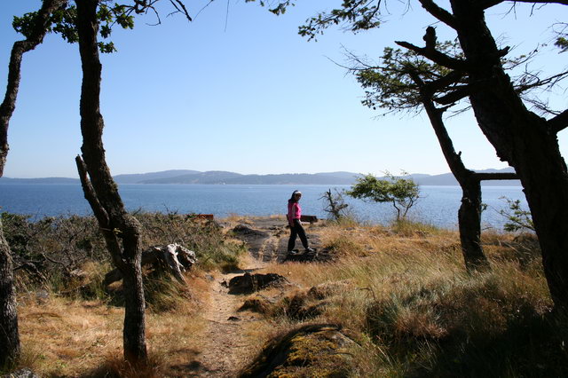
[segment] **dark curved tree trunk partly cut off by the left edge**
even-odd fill
[[[46,26],[51,13],[67,4],[67,0],[44,0],[37,12],[32,31],[28,38],[12,46],[8,65],[8,84],[4,101],[0,105],[0,177],[4,175],[4,166],[8,155],[8,126],[16,109],[16,98],[20,89],[21,59],[25,52],[34,50],[43,42]],[[18,358],[20,355],[20,336],[18,334],[18,314],[16,295],[13,287],[12,253],[4,238],[2,219],[0,219],[0,366]]]

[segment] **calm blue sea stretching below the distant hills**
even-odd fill
[[[337,185],[337,190],[349,185]],[[301,190],[303,214],[326,217],[324,201],[320,199],[329,185],[120,185],[122,201],[129,210],[177,211],[178,213],[232,214],[268,216],[286,213],[290,194]],[[422,198],[410,210],[409,216],[447,228],[457,227],[460,207],[459,186],[421,186]],[[526,208],[521,187],[485,186],[483,201],[488,205],[483,213],[484,227],[501,229],[499,214],[506,208],[501,197],[521,200]],[[376,204],[346,197],[351,212],[362,221],[387,224],[395,217],[388,203]],[[0,185],[0,210],[34,217],[59,215],[90,215],[89,204],[83,198],[80,185]]]

